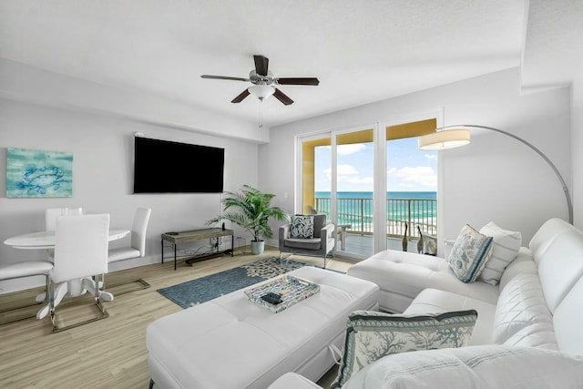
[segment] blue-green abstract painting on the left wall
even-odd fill
[[[72,195],[72,153],[7,148],[6,197],[71,197]]]

